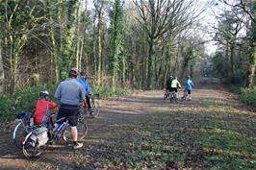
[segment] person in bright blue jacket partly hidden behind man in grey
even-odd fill
[[[81,85],[83,85],[83,88],[84,88],[85,94],[86,94],[86,102],[87,102],[88,108],[91,109],[91,107],[90,107],[91,92],[90,92],[90,85],[89,85],[88,78],[89,78],[88,72],[81,71],[80,76],[77,79],[77,82],[80,83]]]

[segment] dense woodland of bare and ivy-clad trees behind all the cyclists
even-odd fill
[[[218,24],[205,29],[213,8]],[[163,88],[196,74],[252,86],[255,13],[254,0],[1,0],[1,91],[57,84],[72,66],[92,85]]]

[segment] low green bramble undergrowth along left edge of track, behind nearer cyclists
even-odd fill
[[[50,93],[50,100],[56,102],[54,92],[57,85],[28,86],[17,90],[13,95],[4,94],[0,98],[0,122],[12,120],[19,111],[34,112],[39,98],[39,91],[47,90]],[[111,96],[124,96],[130,94],[127,88],[114,88],[110,86],[91,86],[93,93],[99,93],[99,97],[108,98]]]

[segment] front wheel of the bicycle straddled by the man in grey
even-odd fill
[[[78,132],[77,140],[78,141],[83,140],[83,138],[88,134],[87,124],[81,120],[78,120],[77,132]],[[73,141],[70,126],[66,127],[66,129],[64,130],[64,141],[66,141],[66,142]]]

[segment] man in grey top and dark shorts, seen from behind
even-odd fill
[[[79,104],[85,101],[85,91],[83,86],[76,80],[79,71],[77,68],[71,68],[69,78],[58,85],[55,97],[60,101],[61,106],[57,115],[57,119],[66,117],[71,127],[71,135],[73,138],[73,148],[78,149],[83,146],[83,143],[77,142],[77,122]],[[62,122],[60,122],[62,123]]]

